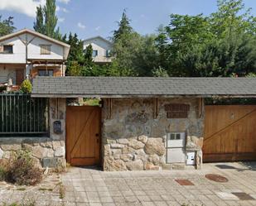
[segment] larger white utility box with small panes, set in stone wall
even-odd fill
[[[167,134],[167,163],[185,163],[185,132]]]

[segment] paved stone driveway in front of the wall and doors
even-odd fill
[[[217,183],[206,174],[223,175]],[[103,172],[70,168],[65,205],[256,205],[256,162],[205,164],[202,170]],[[190,180],[182,186],[176,180]],[[252,200],[242,200],[252,199]]]

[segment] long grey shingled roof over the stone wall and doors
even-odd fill
[[[256,78],[36,77],[33,97],[256,97]]]

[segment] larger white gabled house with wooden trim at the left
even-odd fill
[[[65,75],[70,46],[36,31],[23,29],[0,37],[0,84],[20,85],[27,76]]]

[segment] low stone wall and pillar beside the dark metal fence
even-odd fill
[[[65,166],[65,98],[51,98],[49,103],[50,137],[0,137],[0,159],[8,159],[12,152],[31,150],[36,165]],[[55,133],[53,122],[61,122],[61,132]]]

